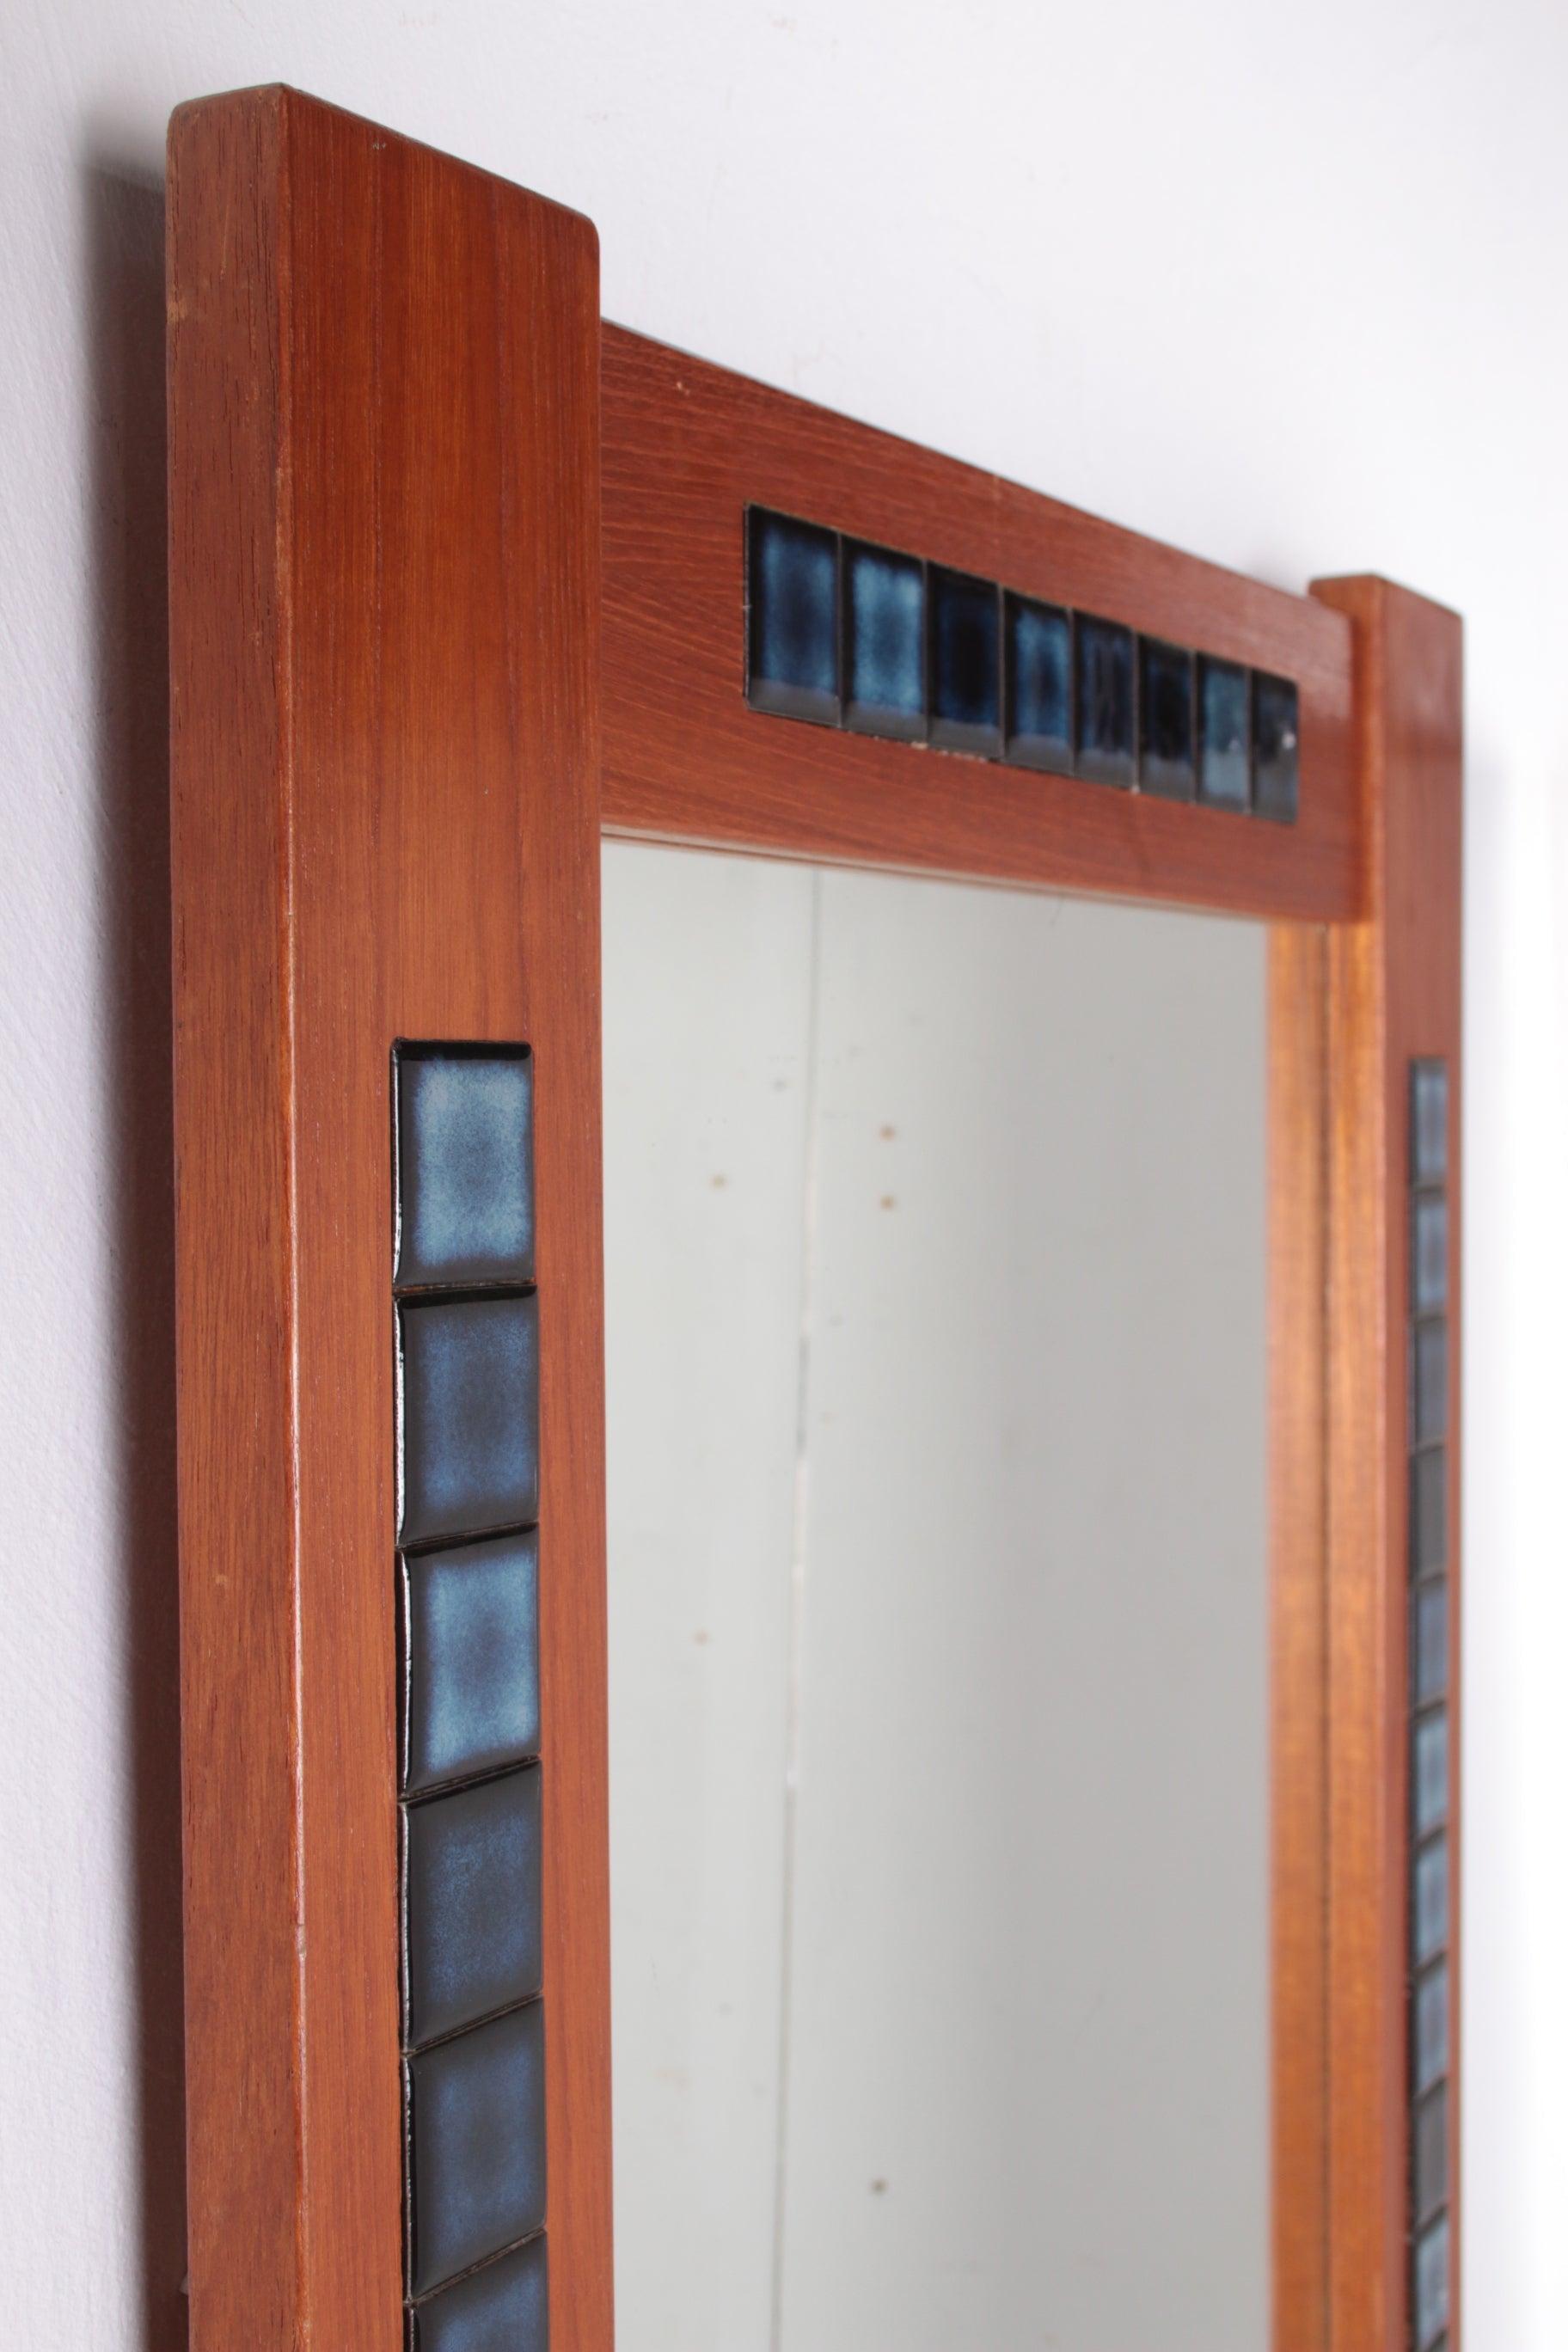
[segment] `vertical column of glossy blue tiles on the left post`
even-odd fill
[[[545,2352],[534,1058],[395,1058],[409,2352]]]

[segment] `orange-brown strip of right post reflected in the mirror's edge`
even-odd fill
[[[1274,2352],[1328,2343],[1328,936],[1269,931]]]

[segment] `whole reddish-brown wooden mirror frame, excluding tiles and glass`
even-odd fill
[[[602,332],[585,221],[287,89],[174,118],[169,437],[195,2352],[402,2340],[400,1035],[536,1051],[552,2343],[611,2347],[602,828],[1269,922],[1274,2345],[1394,2352],[1406,1068],[1446,1056],[1458,1171],[1458,621]],[[1300,823],[748,710],[748,501],[1295,677]],[[1458,1301],[1458,1216],[1450,1254]],[[1458,1345],[1450,1430],[1458,1531]]]

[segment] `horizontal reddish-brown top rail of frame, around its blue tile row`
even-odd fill
[[[1300,680],[1300,823],[752,710],[750,501]],[[1307,597],[607,327],[604,823],[773,856],[1342,920],[1361,903],[1349,628]]]

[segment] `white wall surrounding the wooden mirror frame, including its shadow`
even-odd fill
[[[1286,586],[1469,619],[1467,2274],[1559,2343],[1568,19],[1556,0],[9,0],[0,2213],[172,2310],[155,188],[287,78],[588,209],[607,308]],[[141,2154],[148,2157],[141,2164]],[[148,2328],[155,2326],[148,2319]]]

